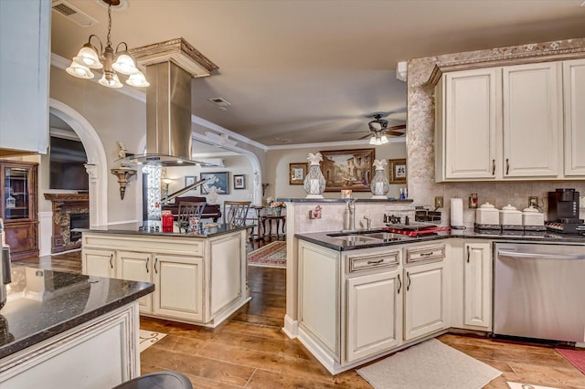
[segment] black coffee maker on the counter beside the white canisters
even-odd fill
[[[579,218],[579,192],[561,188],[548,192],[548,224],[554,224],[564,232],[577,232],[583,225]]]

